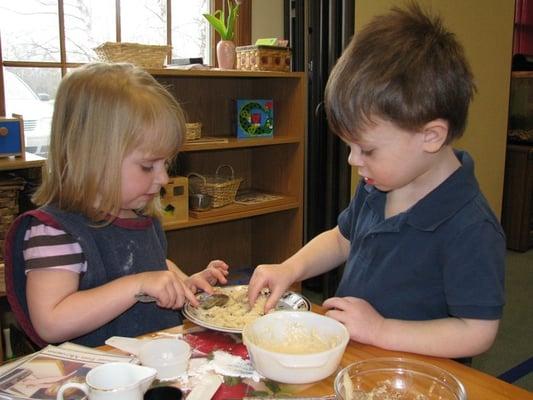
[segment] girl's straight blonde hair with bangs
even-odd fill
[[[108,220],[120,210],[124,157],[141,148],[171,159],[184,129],[181,107],[146,71],[131,64],[76,68],[59,85],[47,170],[32,200]],[[138,211],[158,210],[156,199]]]

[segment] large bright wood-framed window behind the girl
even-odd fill
[[[0,115],[22,114],[26,151],[46,156],[61,77],[97,59],[106,41],[170,44],[172,58],[211,63],[214,38],[202,14],[221,0],[14,0],[0,5]],[[238,43],[250,41],[250,5],[241,5]],[[243,12],[244,11],[244,12]],[[244,27],[244,28],[243,28]],[[246,33],[247,32],[247,33]],[[21,99],[19,97],[24,97]]]

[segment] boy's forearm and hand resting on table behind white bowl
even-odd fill
[[[492,345],[499,320],[443,318],[403,321],[383,318],[368,302],[333,297],[327,315],[344,323],[351,339],[387,350],[459,358],[480,354]]]

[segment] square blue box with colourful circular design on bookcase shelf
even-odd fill
[[[237,137],[264,138],[274,135],[274,101],[237,100]]]

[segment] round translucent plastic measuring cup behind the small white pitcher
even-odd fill
[[[168,381],[187,372],[191,347],[180,339],[154,339],[139,350],[141,364],[157,370],[157,379]]]

